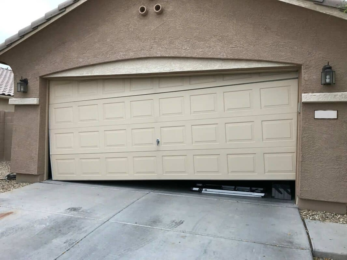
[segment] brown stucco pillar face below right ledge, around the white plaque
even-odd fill
[[[314,119],[338,110],[338,119]],[[347,203],[347,104],[303,104],[300,197]]]

